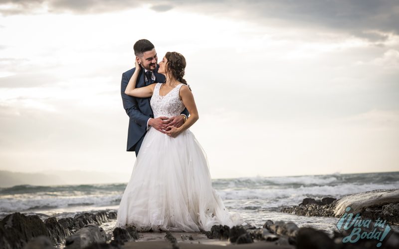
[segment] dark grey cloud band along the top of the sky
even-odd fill
[[[1,0],[0,13],[23,14],[45,7],[49,12],[103,13],[137,8],[143,4],[160,12],[180,8],[270,25],[332,28],[371,41],[387,39],[386,33],[399,34],[397,0],[147,0],[145,3],[139,0]]]

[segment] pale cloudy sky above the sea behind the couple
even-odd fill
[[[0,170],[130,176],[146,38],[186,57],[212,178],[398,171],[398,23],[396,0],[0,0]]]

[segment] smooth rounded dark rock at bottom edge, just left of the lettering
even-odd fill
[[[327,234],[313,228],[300,228],[296,237],[297,249],[334,249],[335,243]]]

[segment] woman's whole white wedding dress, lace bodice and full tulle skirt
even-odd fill
[[[151,98],[154,118],[180,115],[183,84],[165,96],[157,83]],[[151,127],[136,158],[118,210],[117,227],[138,231],[210,231],[213,225],[241,225],[212,188],[206,154],[194,134],[185,130],[173,138]]]

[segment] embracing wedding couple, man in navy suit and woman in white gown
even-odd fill
[[[115,227],[138,231],[210,231],[243,223],[212,188],[206,154],[189,127],[199,119],[185,75],[186,59],[154,45],[134,44],[135,68],[122,74],[129,116],[127,150],[136,152]]]

